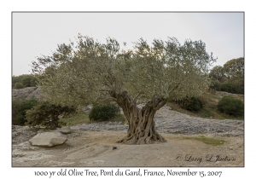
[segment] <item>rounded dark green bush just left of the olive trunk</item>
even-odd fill
[[[90,120],[107,121],[114,118],[117,114],[119,114],[119,107],[113,104],[96,105],[90,110],[89,118]]]

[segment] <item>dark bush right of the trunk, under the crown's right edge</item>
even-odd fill
[[[195,97],[178,101],[178,104],[180,107],[192,112],[198,112],[203,107],[201,100]]]

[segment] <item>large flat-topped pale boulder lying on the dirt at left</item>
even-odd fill
[[[65,141],[67,141],[67,137],[58,131],[40,133],[29,140],[32,146],[40,147],[52,147],[55,145],[60,145]]]

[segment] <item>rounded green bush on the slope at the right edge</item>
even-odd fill
[[[218,102],[218,111],[233,116],[242,116],[244,112],[244,104],[241,100],[231,96],[224,96]]]

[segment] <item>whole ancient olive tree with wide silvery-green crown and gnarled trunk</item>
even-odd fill
[[[181,45],[176,38],[154,39],[150,46],[140,38],[125,51],[113,38],[100,43],[79,34],[76,43],[58,45],[52,55],[38,57],[32,71],[41,74],[39,85],[55,103],[115,101],[129,124],[119,142],[149,144],[166,141],[155,130],[156,111],[167,100],[201,95],[213,61],[201,40]],[[146,103],[139,108],[137,101]]]

